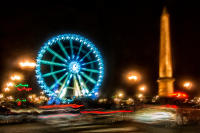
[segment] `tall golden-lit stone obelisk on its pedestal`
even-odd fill
[[[158,95],[168,97],[174,92],[169,13],[164,8],[160,21],[160,55]]]

